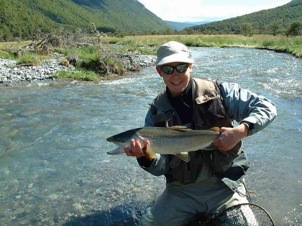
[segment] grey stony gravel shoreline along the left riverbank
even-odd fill
[[[144,67],[153,67],[157,57],[153,55],[131,55],[132,60]],[[15,60],[0,58],[0,86],[17,85],[20,81],[33,82],[37,80],[53,79],[56,71],[66,70],[61,65],[60,58],[45,60],[39,66],[14,67]]]

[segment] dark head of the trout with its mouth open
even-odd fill
[[[117,145],[120,150],[124,150],[125,146],[128,146],[129,149],[131,150],[131,145],[130,145],[130,140],[139,140],[140,135],[138,133],[138,131],[141,128],[137,128],[137,129],[132,129],[132,130],[127,130],[123,133],[118,133],[116,135],[113,135],[111,137],[108,137],[106,140],[108,142],[114,143],[115,145]],[[117,149],[115,149],[117,150]]]

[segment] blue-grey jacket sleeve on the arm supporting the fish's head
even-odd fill
[[[152,120],[152,110],[149,108],[149,111],[145,118],[145,127],[154,127],[153,120]],[[154,176],[161,176],[163,174],[169,173],[169,157],[168,155],[161,155],[156,153],[156,157],[148,167],[143,166],[143,159],[137,159],[138,164],[141,168],[145,171],[153,174]]]

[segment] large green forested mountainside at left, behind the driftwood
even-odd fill
[[[137,0],[0,0],[0,41],[28,39],[40,28],[159,31],[171,28]]]

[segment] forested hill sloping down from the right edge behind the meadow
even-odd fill
[[[266,27],[271,23],[277,22],[280,24],[280,28],[288,28],[288,24],[295,21],[302,22],[302,0],[293,0],[276,8],[197,25],[192,28],[204,33],[210,31],[212,33],[232,34],[237,33],[243,23],[252,23],[258,33],[265,33]]]

